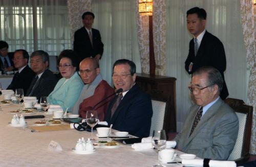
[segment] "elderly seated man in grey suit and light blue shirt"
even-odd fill
[[[220,98],[221,73],[214,67],[201,67],[188,87],[193,105],[183,130],[175,137],[177,149],[201,158],[226,160],[237,140],[239,122],[236,113]]]

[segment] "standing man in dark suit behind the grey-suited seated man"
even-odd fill
[[[187,11],[187,29],[194,35],[189,42],[189,52],[185,61],[185,69],[188,74],[202,66],[217,68],[223,77],[224,84],[221,91],[221,99],[226,99],[228,90],[224,79],[226,70],[226,55],[222,42],[205,30],[206,12],[198,7]]]

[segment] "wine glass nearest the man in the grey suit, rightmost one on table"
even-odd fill
[[[165,130],[154,130],[153,131],[153,136],[152,136],[152,144],[155,147],[155,149],[157,149],[158,151],[158,164],[153,165],[154,167],[160,167],[160,166],[164,166],[160,164],[160,155],[159,155],[159,151],[162,150],[163,148],[165,148],[165,144],[166,144],[166,134],[165,134]]]

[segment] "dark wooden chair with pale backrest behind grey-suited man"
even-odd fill
[[[242,163],[249,158],[253,107],[244,104],[244,101],[239,99],[228,98],[225,102],[236,112],[239,120],[237,141],[228,160]]]

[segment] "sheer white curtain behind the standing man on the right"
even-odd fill
[[[225,47],[227,68],[224,73],[229,97],[246,102],[246,51],[243,41],[239,0],[166,0],[166,59],[168,76],[176,77],[177,130],[185,121],[191,102],[187,89],[190,76],[184,69],[189,40],[186,11],[193,7],[207,12],[206,29],[216,35]]]

